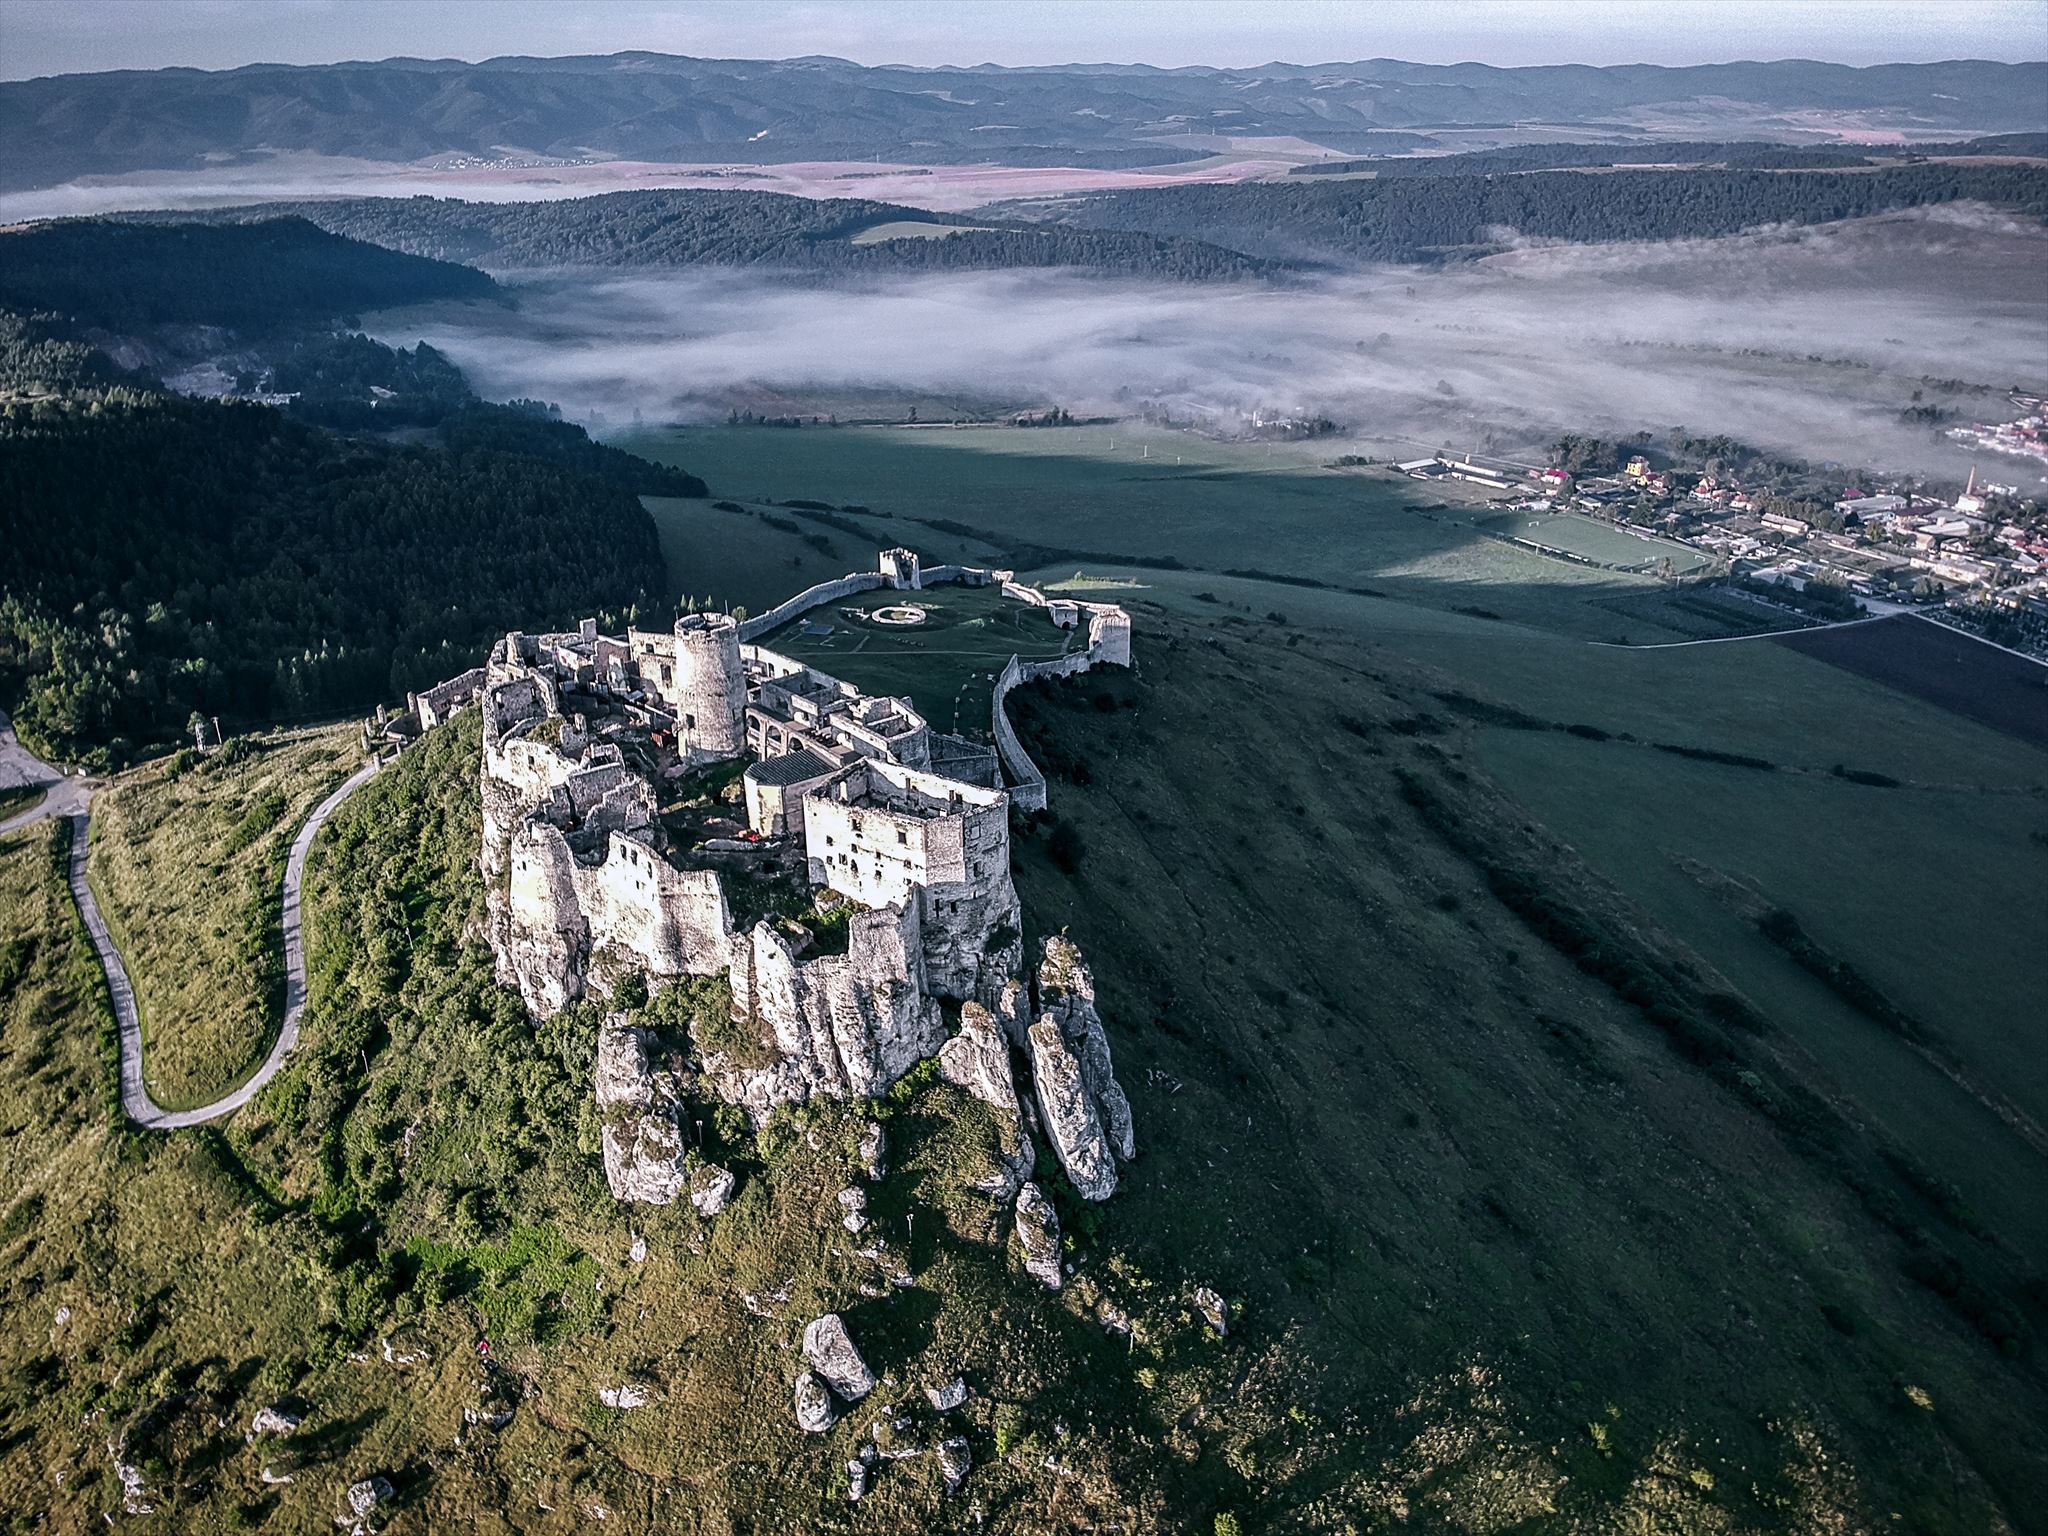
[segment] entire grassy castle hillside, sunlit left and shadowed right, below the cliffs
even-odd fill
[[[985,1126],[936,1087],[895,1108],[897,1171],[874,1196],[913,1290],[862,1298],[872,1272],[821,1214],[848,1178],[838,1112],[813,1124],[815,1149],[707,1114],[743,1180],[709,1229],[614,1206],[590,1020],[528,1030],[461,944],[481,897],[465,717],[350,801],[315,852],[305,1044],[225,1141],[59,1163],[104,1143],[82,1006],[10,989],[10,1008],[49,1014],[84,1096],[61,1135],[12,1143],[25,1180],[61,1165],[68,1200],[119,1198],[119,1241],[137,1245],[123,1274],[180,1276],[162,1311],[178,1327],[139,1352],[147,1382],[131,1370],[117,1389],[119,1358],[70,1350],[37,1370],[104,1397],[109,1430],[141,1415],[143,1444],[168,1434],[143,1409],[178,1399],[176,1454],[145,1470],[160,1499],[182,1477],[182,1530],[233,1509],[324,1526],[373,1468],[399,1485],[397,1530],[571,1530],[596,1505],[643,1530],[940,1530],[975,1505],[987,1530],[1188,1530],[1217,1509],[1251,1530],[1366,1530],[1403,1507],[1470,1530],[1812,1530],[1890,1509],[1978,1530],[1989,1501],[2023,1522],[2048,1456],[2034,1366],[1905,1278],[1901,1241],[1833,1169],[1675,1057],[1417,821],[1397,770],[1473,795],[1470,825],[1528,856],[1456,737],[1411,733],[1432,676],[1362,666],[1350,641],[1288,647],[1278,625],[1141,621],[1126,707],[1104,713],[1090,680],[1026,721],[1092,766],[1092,782],[1055,784],[1085,840],[1079,874],[1026,840],[1020,881],[1030,922],[1069,926],[1098,967],[1143,1143],[1124,1192],[1073,1223],[1083,1284],[1047,1298],[979,1243],[985,1212],[958,1180]],[[1247,696],[1268,705],[1249,729],[1214,731]],[[1569,870],[1563,848],[1538,852]],[[55,932],[47,858],[6,870]],[[1608,901],[1597,881],[1567,885]],[[1802,1071],[1772,1042],[1751,1065],[1772,1092]],[[33,1071],[8,1055],[0,1094],[47,1114]],[[1995,1251],[1898,1198],[2003,1282]],[[0,1253],[16,1303],[80,1241],[31,1231]],[[627,1260],[635,1231],[643,1266]],[[199,1262],[221,1233],[227,1251]],[[1241,1307],[1227,1346],[1188,1319],[1198,1282]],[[782,1319],[737,1305],[778,1284]],[[1083,1321],[1102,1298],[1139,1321],[1135,1348]],[[840,1499],[870,1415],[811,1440],[786,1405],[797,1325],[825,1305],[895,1391],[969,1374],[967,1499],[942,1503],[928,1460],[885,1468],[858,1507]],[[8,1350],[39,1358],[31,1309],[10,1315]],[[479,1331],[496,1378],[471,1362]],[[383,1364],[379,1337],[424,1358]],[[594,1401],[627,1378],[655,1405]],[[311,1409],[305,1438],[242,1450],[248,1413],[287,1389]],[[113,1499],[104,1470],[78,1473],[102,1466],[102,1442],[66,1427],[70,1399],[23,1391],[10,1454],[72,1468],[41,1497],[84,1524]],[[506,1430],[463,1427],[479,1391],[500,1393],[487,1409],[518,1403]],[[1047,1470],[1049,1454],[1077,1475]],[[260,1462],[299,1481],[266,1489]]]

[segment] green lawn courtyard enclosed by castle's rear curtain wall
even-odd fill
[[[909,602],[922,625],[883,629],[844,610],[874,612]],[[934,729],[985,737],[993,676],[1012,655],[1061,655],[1085,633],[1059,629],[1042,608],[995,588],[934,586],[924,592],[864,592],[813,608],[762,637],[762,645],[858,684],[870,694],[905,694]]]

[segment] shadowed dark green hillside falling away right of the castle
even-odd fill
[[[1245,1296],[1257,1337],[1292,1335],[1321,1364],[1319,1409],[1362,1440],[1325,1468],[1323,1528],[1370,1528],[1397,1499],[1481,1528],[1546,1499],[1618,1518],[1692,1503],[1698,1468],[1765,1528],[1825,1528],[1802,1505],[1819,1499],[1970,1530],[1952,1454],[2032,1520],[2038,1366],[1907,1280],[1907,1243],[1837,1169],[1589,991],[1417,823],[1399,770],[1468,797],[1468,834],[1526,844],[1575,903],[1612,903],[1612,932],[1655,934],[1479,793],[1456,733],[1411,733],[1440,711],[1430,672],[1278,627],[1229,629],[1221,651],[1163,614],[1147,629],[1133,711],[1104,717],[1085,688],[1036,711],[1090,766],[1055,784],[1085,856],[1069,879],[1028,848],[1024,907],[1071,926],[1122,1026],[1149,1145],[1114,1233]],[[1737,1049],[1759,1098],[1829,1087],[1778,997],[1753,1001],[1774,1024]],[[1901,1188],[1909,1229],[2023,1280]],[[1317,1440],[1266,1444],[1278,1477]],[[1817,1446],[1853,1470],[1823,1475]],[[1712,1526],[1694,1509],[1667,1528]]]

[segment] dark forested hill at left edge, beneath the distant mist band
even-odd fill
[[[0,307],[47,309],[106,330],[262,328],[496,293],[483,272],[379,250],[305,219],[70,219],[0,233]]]

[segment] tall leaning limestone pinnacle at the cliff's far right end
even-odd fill
[[[1096,1012],[1094,977],[1065,938],[1044,942],[1038,1022],[1026,1038],[1038,1114],[1061,1169],[1083,1200],[1108,1200],[1118,1159],[1137,1157],[1137,1135]]]

